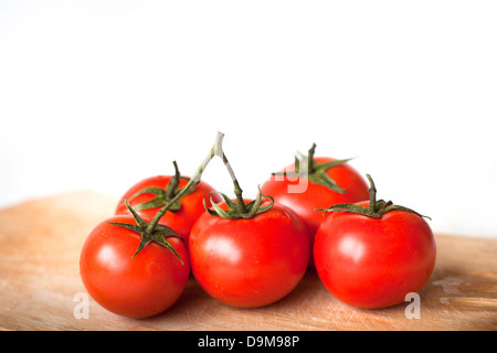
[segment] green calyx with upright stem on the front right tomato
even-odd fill
[[[393,204],[392,201],[377,200],[377,188],[374,186],[374,182],[373,182],[371,175],[367,174],[366,176],[368,178],[368,181],[370,184],[370,188],[369,188],[370,200],[369,200],[368,206],[341,203],[341,204],[332,205],[329,208],[316,208],[316,211],[325,211],[324,215],[327,214],[328,212],[350,212],[350,213],[361,214],[361,215],[364,215],[364,216],[368,216],[371,218],[381,218],[385,213],[391,212],[391,211],[403,211],[403,212],[414,213],[421,217],[432,220],[429,216],[425,216],[425,215],[422,215],[422,214],[415,212],[414,210],[411,210],[411,208],[408,208],[408,207],[404,207],[401,205],[395,205],[395,204]]]

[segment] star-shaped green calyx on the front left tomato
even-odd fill
[[[137,256],[145,246],[147,246],[149,243],[155,242],[167,249],[169,249],[175,256],[179,259],[181,265],[184,265],[181,256],[178,254],[178,252],[172,247],[172,245],[167,240],[168,237],[177,237],[183,240],[181,235],[175,232],[171,227],[168,227],[162,224],[155,224],[154,226],[150,226],[147,222],[141,218],[138,213],[129,205],[128,201],[125,199],[125,204],[128,207],[129,212],[131,212],[133,217],[135,218],[136,224],[128,224],[128,223],[119,223],[119,222],[108,222],[108,224],[119,226],[129,231],[133,231],[135,233],[138,233],[140,238],[140,244],[138,245],[137,250],[131,256],[134,258]]]

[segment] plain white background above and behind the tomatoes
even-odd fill
[[[191,174],[220,130],[246,196],[316,142],[497,237],[496,118],[496,1],[0,0],[0,207]]]

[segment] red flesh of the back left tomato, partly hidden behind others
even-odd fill
[[[154,218],[157,211],[166,205],[167,201],[169,200],[163,199],[162,202],[158,203],[158,206],[152,206],[145,210],[139,210],[139,205],[157,200],[158,196],[154,194],[152,191],[158,192],[158,189],[165,192],[172,178],[173,175],[157,175],[139,181],[138,183],[133,185],[119,200],[116,207],[116,214],[129,214],[129,210],[126,207],[126,204],[124,202],[124,199],[126,197],[126,200],[128,200],[129,204],[138,212],[138,214],[144,217]],[[180,179],[178,188],[184,188],[187,183],[187,180]],[[148,189],[149,191],[133,197],[135,194],[146,189]],[[201,181],[192,192],[187,193],[187,195],[177,203],[177,210],[171,207],[168,212],[166,212],[162,218],[160,218],[160,223],[173,228],[184,239],[184,244],[188,244],[188,237],[190,236],[191,227],[195,223],[197,218],[205,211],[202,203],[203,199],[213,191],[214,189],[212,186]],[[210,196],[214,202],[219,202],[222,200],[219,194],[211,194]],[[209,197],[205,199],[205,204],[209,207],[211,206]]]

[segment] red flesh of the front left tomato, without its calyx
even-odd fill
[[[88,235],[80,258],[83,284],[105,309],[128,318],[147,318],[171,307],[189,275],[187,248],[178,237],[167,242],[181,257],[157,243],[137,252],[140,234],[108,222],[136,224],[131,215],[115,215]]]

